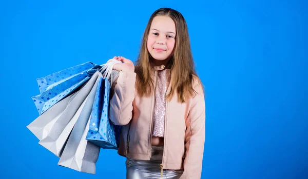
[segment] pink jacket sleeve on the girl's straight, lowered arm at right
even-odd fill
[[[184,172],[181,179],[201,177],[205,143],[205,99],[201,82],[195,88],[197,95],[192,98],[185,133]]]

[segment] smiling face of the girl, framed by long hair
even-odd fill
[[[147,38],[147,50],[151,56],[163,61],[169,58],[176,44],[176,25],[169,16],[155,16]]]

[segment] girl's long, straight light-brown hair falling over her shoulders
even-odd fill
[[[147,50],[147,38],[153,18],[158,15],[169,16],[175,22],[177,34],[174,53],[167,64],[167,68],[170,68],[171,71],[171,88],[170,93],[166,95],[166,99],[170,101],[175,92],[177,92],[178,102],[185,103],[196,92],[194,90],[193,80],[197,79],[200,83],[201,81],[195,71],[186,21],[183,15],[174,9],[161,8],[150,16],[143,34],[140,53],[136,61],[136,88],[141,96],[150,95],[154,89],[151,78],[152,66],[150,65],[150,54]]]

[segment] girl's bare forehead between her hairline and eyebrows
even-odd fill
[[[150,29],[176,33],[176,24],[169,16],[158,15],[153,18]]]

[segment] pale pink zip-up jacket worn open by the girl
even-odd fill
[[[155,67],[153,79],[156,82]],[[155,94],[141,97],[135,89],[136,73],[120,72],[113,85],[109,118],[122,126],[118,153],[137,160],[150,160]],[[156,84],[156,83],[154,83]],[[171,83],[170,83],[171,84]],[[205,100],[202,84],[194,84],[198,94],[186,103],[177,95],[166,101],[163,169],[184,169],[181,179],[201,177],[205,142]],[[170,85],[167,90],[170,90]],[[113,91],[113,90],[112,90]]]

